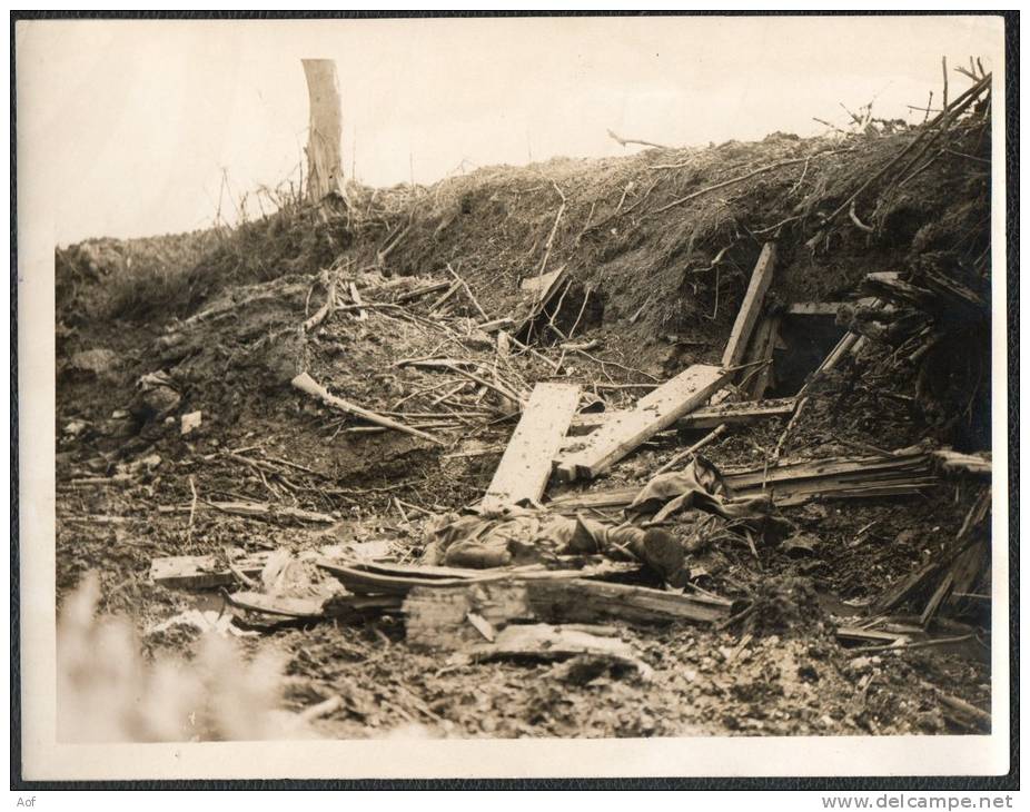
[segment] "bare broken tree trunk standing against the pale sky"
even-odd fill
[[[343,123],[336,62],[331,59],[303,59],[308,85],[310,123],[308,127],[308,199],[318,204],[329,195],[343,197],[340,136]]]

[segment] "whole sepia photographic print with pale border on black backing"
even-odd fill
[[[12,19],[23,776],[1004,774],[1012,22]]]

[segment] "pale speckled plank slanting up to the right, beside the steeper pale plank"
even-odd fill
[[[584,447],[565,455],[557,467],[564,482],[603,474],[641,443],[705,403],[730,377],[724,369],[696,364],[641,398],[636,407],[605,423]]]

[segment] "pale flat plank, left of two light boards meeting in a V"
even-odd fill
[[[484,511],[539,501],[578,403],[577,385],[537,384],[533,388],[483,498]]]

